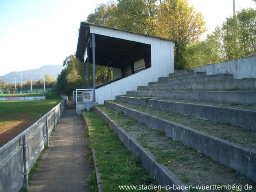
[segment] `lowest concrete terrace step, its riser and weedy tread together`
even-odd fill
[[[150,129],[144,123],[107,106],[98,106],[94,110],[110,124],[124,145],[140,157],[141,164],[158,185],[172,186],[177,184],[177,181],[193,186],[239,183],[252,185],[252,190],[256,189],[255,183],[248,178],[234,173],[234,170],[188,148],[181,142],[164,136],[162,132]]]

